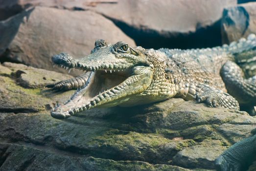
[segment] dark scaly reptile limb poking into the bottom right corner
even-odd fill
[[[245,138],[215,160],[217,171],[245,171],[256,157],[256,135]]]

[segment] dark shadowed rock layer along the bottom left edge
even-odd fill
[[[152,165],[140,161],[114,161],[87,157],[85,155],[69,156],[52,152],[51,148],[26,147],[0,143],[1,170],[17,171],[24,168],[29,171],[189,171],[177,166]],[[18,165],[10,168],[12,163]]]

